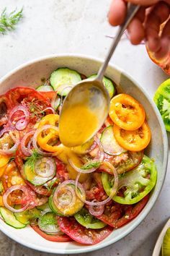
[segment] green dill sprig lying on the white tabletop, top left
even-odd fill
[[[22,14],[23,9],[19,12],[15,9],[13,12],[7,14],[6,8],[3,12],[1,12],[0,16],[0,33],[5,34],[7,31],[14,30],[15,25],[19,22],[19,20],[23,17]]]

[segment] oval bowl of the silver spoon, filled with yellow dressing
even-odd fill
[[[91,139],[107,118],[109,101],[109,93],[101,81],[79,82],[61,108],[59,135],[63,145],[75,147]]]

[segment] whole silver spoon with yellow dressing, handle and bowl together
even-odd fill
[[[99,128],[102,127],[104,120],[107,118],[107,114],[109,112],[110,98],[109,98],[109,93],[102,82],[102,78],[104,76],[105,70],[107,69],[109,59],[112,57],[112,54],[114,53],[115,48],[120,41],[122,33],[128,27],[130,21],[133,19],[136,12],[138,12],[139,8],[140,8],[139,5],[128,4],[128,10],[127,10],[125,22],[120,26],[117,32],[117,35],[115,36],[115,39],[112,43],[112,46],[109,49],[107,58],[102,64],[102,67],[99,69],[96,79],[83,80],[79,82],[79,84],[73,87],[73,89],[68,93],[65,100],[63,101],[63,106],[61,108],[61,114],[59,119],[59,135],[63,145],[66,145],[67,147],[74,147],[77,145],[84,144],[86,141],[88,141],[91,137],[95,135],[95,133],[99,130]],[[76,106],[78,104],[79,105],[81,104],[81,106],[86,106],[87,108],[89,108],[89,110],[97,117],[97,120],[98,120],[97,126],[94,127],[93,130],[91,130],[89,135],[84,136],[84,138],[81,137],[80,134],[76,133],[77,132],[76,130],[73,131],[73,129],[71,130],[68,129],[67,136],[65,136],[64,132],[66,132],[66,126],[65,126],[66,122],[63,120],[63,116],[66,120],[66,115],[64,114],[66,114],[66,111],[68,111],[69,109],[70,110],[69,118],[70,118],[71,108],[73,108],[73,106]],[[75,122],[76,122],[76,116],[75,116],[75,113],[72,114],[72,118],[73,120],[75,120]],[[87,123],[85,116],[82,116],[81,121],[84,121],[84,124]],[[94,121],[93,118],[91,118],[91,124],[93,121]],[[77,129],[79,129],[78,126],[77,126]],[[73,135],[73,132],[75,132],[75,139],[71,140],[71,136]]]

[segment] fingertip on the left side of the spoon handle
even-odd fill
[[[112,26],[122,24],[125,20],[126,4],[123,0],[112,0],[111,7],[109,9],[109,23]]]

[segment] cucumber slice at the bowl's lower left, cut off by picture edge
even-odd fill
[[[6,216],[4,216],[4,213],[6,213],[6,215],[10,214],[12,218],[14,218],[12,221],[14,221],[14,223],[12,224],[12,221],[7,221],[6,220]],[[12,226],[13,228],[15,229],[24,229],[27,225],[21,223],[20,221],[17,221],[17,219],[15,218],[14,216],[14,213],[12,213],[10,210],[4,208],[4,207],[0,207],[0,213],[1,213],[1,216],[4,220],[4,222],[9,225],[9,226]]]

